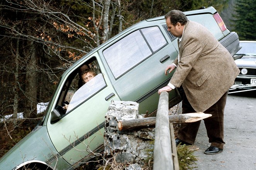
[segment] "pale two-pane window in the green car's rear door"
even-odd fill
[[[158,27],[136,30],[103,51],[103,55],[115,78],[144,61],[166,45]]]

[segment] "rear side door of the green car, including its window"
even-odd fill
[[[167,85],[173,75],[164,75],[164,70],[178,55],[164,27],[132,30],[103,49],[102,55],[120,99],[138,102],[141,114],[156,110],[158,89]],[[169,100],[178,95],[176,90],[169,94]]]

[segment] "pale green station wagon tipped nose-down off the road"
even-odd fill
[[[189,20],[207,27],[234,55],[237,33],[230,32],[213,7],[185,12]],[[153,113],[158,89],[173,74],[164,69],[178,56],[177,38],[167,31],[164,17],[133,25],[95,48],[60,78],[41,123],[0,159],[1,170],[74,169],[102,152],[105,113],[112,100],[139,103],[139,113]],[[97,74],[79,87],[79,70]],[[180,102],[178,90],[169,93],[170,107]],[[62,109],[68,104],[68,109]]]

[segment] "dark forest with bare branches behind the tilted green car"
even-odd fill
[[[38,103],[79,58],[141,20],[210,6],[240,40],[256,40],[256,0],[1,0],[0,157],[37,125]]]

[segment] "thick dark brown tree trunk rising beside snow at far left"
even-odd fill
[[[30,118],[34,117],[37,112],[37,65],[38,60],[36,56],[36,44],[34,41],[29,40],[29,56],[26,69],[25,78],[25,97],[27,102],[25,102],[25,112],[24,117]]]

